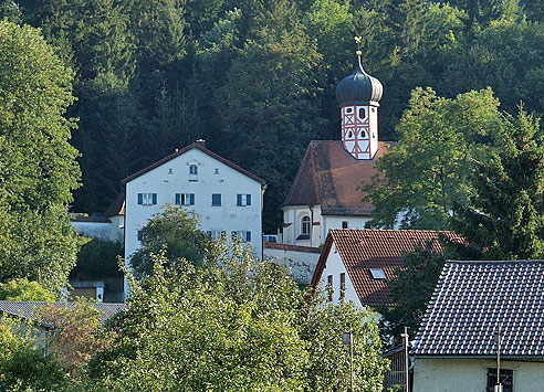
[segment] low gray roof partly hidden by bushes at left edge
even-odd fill
[[[14,301],[0,300],[0,312],[7,312],[12,316],[24,317],[30,320],[40,322],[38,319],[38,309],[51,303],[31,303],[31,301]],[[73,303],[55,303],[56,307],[67,307],[74,309]],[[108,318],[113,317],[117,311],[125,309],[125,304],[94,304],[94,307],[101,312],[100,321],[104,324]]]

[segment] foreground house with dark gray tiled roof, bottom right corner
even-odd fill
[[[415,391],[544,390],[544,261],[448,262],[415,341]]]

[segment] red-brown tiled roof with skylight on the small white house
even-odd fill
[[[312,287],[316,287],[321,280],[334,242],[360,304],[394,305],[387,283],[373,278],[370,268],[381,268],[386,278],[390,279],[395,276],[395,268],[402,266],[402,254],[414,252],[415,245],[438,239],[439,234],[462,241],[459,235],[451,232],[428,230],[331,230],[312,277]],[[435,242],[435,246],[436,251],[442,251],[439,242]]]

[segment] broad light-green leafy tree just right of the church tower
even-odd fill
[[[499,127],[499,102],[491,89],[456,99],[416,88],[397,130],[400,140],[377,161],[383,176],[365,190],[375,205],[373,226],[446,230],[454,201],[467,200],[470,159],[487,156]]]

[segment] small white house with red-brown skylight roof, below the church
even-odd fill
[[[345,299],[359,307],[394,306],[386,279],[402,267],[402,254],[438,240],[440,233],[460,239],[451,232],[428,230],[333,229],[315,267],[312,287],[325,289],[334,304]],[[435,248],[441,251],[437,241]]]

